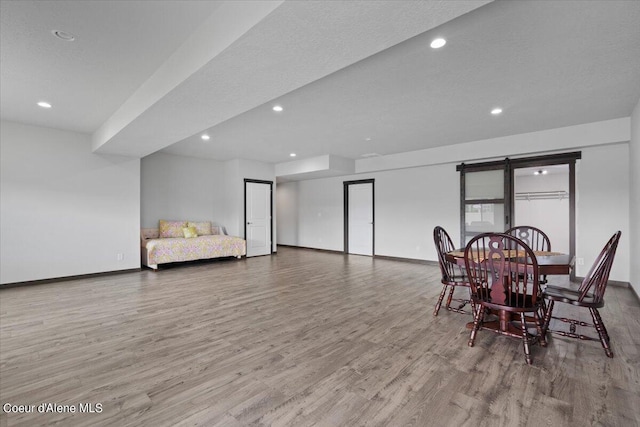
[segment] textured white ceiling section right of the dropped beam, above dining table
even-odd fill
[[[638,22],[640,2],[495,2],[280,97],[282,113],[268,103],[165,151],[358,159],[626,117]]]

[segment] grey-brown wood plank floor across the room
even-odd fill
[[[280,248],[0,291],[1,426],[637,426],[640,305],[610,287],[598,342],[432,316],[437,267]],[[559,314],[568,313],[558,306]],[[586,319],[585,320],[589,320]]]

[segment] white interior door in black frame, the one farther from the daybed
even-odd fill
[[[373,183],[348,185],[348,252],[373,256]]]

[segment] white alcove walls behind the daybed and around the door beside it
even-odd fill
[[[154,153],[142,159],[143,227],[160,219],[213,221],[233,236],[244,237],[244,179],[274,182],[272,164]],[[276,245],[274,195],[274,250]]]

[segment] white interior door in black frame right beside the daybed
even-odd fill
[[[271,254],[271,185],[245,182],[247,257]]]

